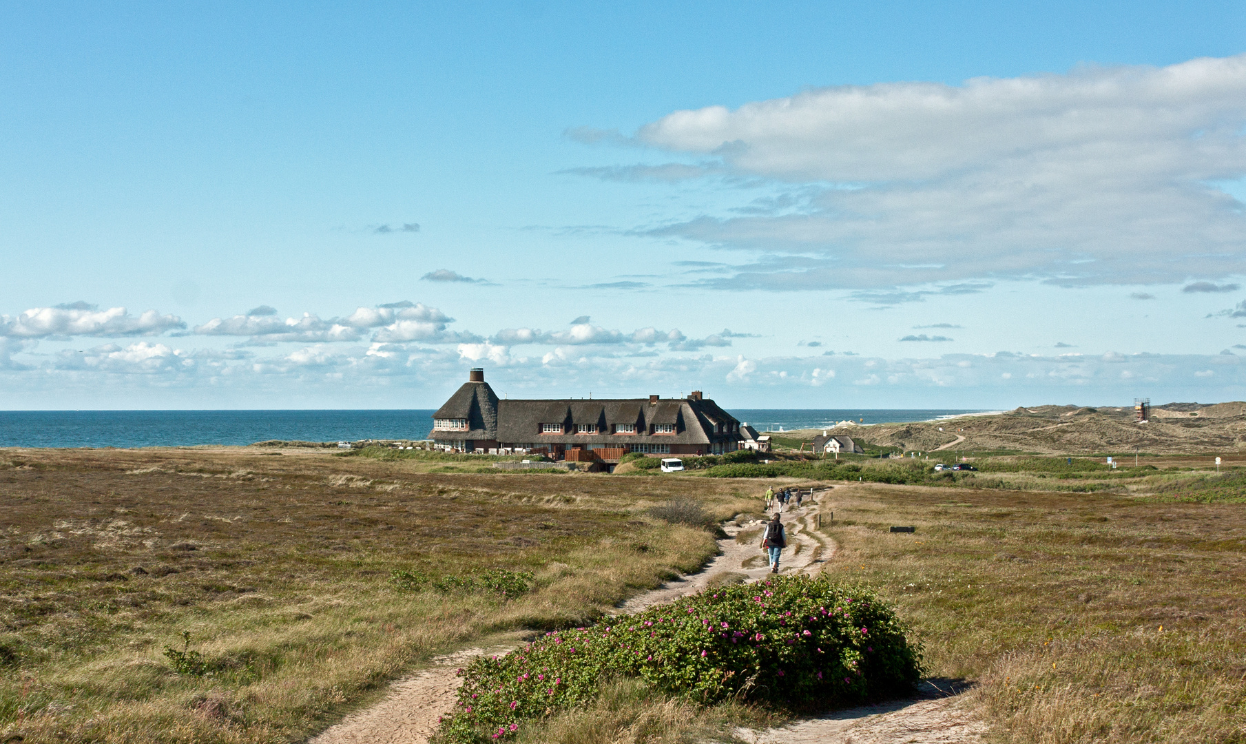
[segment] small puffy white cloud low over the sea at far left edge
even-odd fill
[[[0,336],[40,339],[47,336],[158,335],[186,328],[177,315],[147,310],[131,315],[126,308],[98,309],[83,302],[31,308],[16,318],[0,315]]]

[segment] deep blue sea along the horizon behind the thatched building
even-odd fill
[[[822,429],[836,421],[928,421],[969,410],[738,409],[759,431]],[[425,439],[432,410],[0,411],[0,447],[249,445],[272,439]]]

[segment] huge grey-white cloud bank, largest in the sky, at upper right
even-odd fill
[[[1244,125],[1236,56],[811,90],[678,111],[637,138],[820,189],[786,213],[652,231],[785,257],[736,277],[756,287],[1136,284],[1246,274],[1246,214],[1211,186],[1246,174]]]

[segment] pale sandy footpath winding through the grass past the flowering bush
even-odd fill
[[[817,494],[822,497],[826,491]],[[835,556],[837,547],[814,527],[815,503],[785,510],[789,550],[780,561],[781,573],[816,575],[822,563]],[[719,540],[719,555],[701,571],[672,579],[665,584],[633,597],[619,608],[619,614],[640,612],[654,604],[704,589],[726,573],[744,575],[748,581],[766,576],[770,570],[759,548],[759,540],[736,542],[735,536],[761,522],[744,525],[728,522],[728,537]],[[758,560],[760,558],[760,560]],[[434,665],[395,682],[380,703],[348,715],[309,744],[426,744],[437,728],[437,719],[454,710],[455,692],[460,678],[456,672],[478,656],[506,653],[506,648],[470,648],[432,659]],[[925,692],[925,690],[923,690]],[[738,729],[736,735],[750,744],[779,742],[802,744],[814,742],[852,742],[882,744],[883,742],[968,743],[976,742],[973,719],[962,710],[958,698],[928,697],[840,710],[824,717],[801,720],[791,727],[765,732]],[[897,737],[906,737],[900,739]],[[918,737],[918,738],[915,738]]]

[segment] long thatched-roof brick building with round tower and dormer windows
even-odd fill
[[[617,460],[623,452],[718,455],[736,450],[740,422],[693,391],[684,399],[500,400],[473,369],[432,414],[429,437],[462,452],[548,452]],[[598,452],[587,456],[588,452]]]

